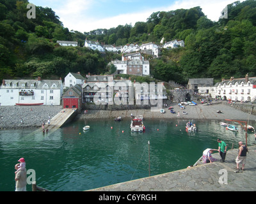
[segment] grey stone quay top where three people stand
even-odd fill
[[[244,171],[236,173],[238,149],[228,150],[225,163],[218,161],[90,191],[256,191],[256,145],[248,147]],[[241,166],[241,164],[240,164]]]

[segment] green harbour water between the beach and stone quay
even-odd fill
[[[207,148],[228,149],[245,142],[244,131],[234,133],[219,120],[198,120],[197,132],[185,131],[186,120],[144,120],[145,133],[131,133],[130,120],[77,120],[54,133],[35,129],[0,131],[0,191],[14,191],[14,165],[20,157],[36,172],[36,183],[51,191],[84,191],[175,171],[194,164]],[[249,122],[255,126],[255,121]],[[88,131],[83,126],[89,125]],[[112,129],[111,129],[112,127]],[[123,132],[124,131],[124,132]],[[81,133],[81,134],[80,134]],[[254,142],[248,134],[248,145]],[[235,158],[234,158],[235,159]],[[31,191],[31,185],[27,186]]]

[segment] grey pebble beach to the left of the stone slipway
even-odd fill
[[[39,128],[62,106],[0,106],[0,129]],[[21,122],[23,121],[23,123]]]

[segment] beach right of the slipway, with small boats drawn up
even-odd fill
[[[132,115],[143,115],[145,119],[214,119],[214,120],[256,120],[255,115],[236,110],[231,106],[224,105],[223,103],[215,103],[212,105],[198,104],[196,106],[185,106],[184,110],[180,110],[177,103],[173,103],[173,110],[176,113],[171,113],[168,108],[164,108],[165,113],[159,111],[154,112],[150,109],[143,110],[120,110],[120,111],[108,111],[108,110],[88,110],[87,114],[79,115],[79,119],[115,119],[115,117],[121,116],[122,118],[131,118]],[[221,110],[222,113],[217,113],[217,110]],[[182,114],[182,111],[186,111],[188,115]],[[178,112],[180,113],[178,116]]]

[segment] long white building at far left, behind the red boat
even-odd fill
[[[1,106],[21,104],[60,105],[63,85],[60,80],[3,80]]]

